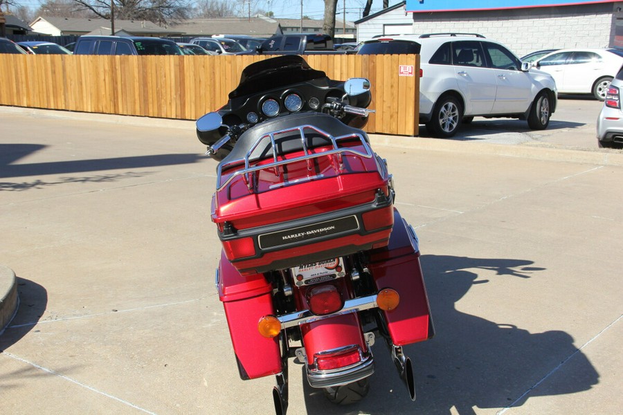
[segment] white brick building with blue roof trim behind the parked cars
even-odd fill
[[[623,1],[613,0],[407,0],[354,23],[359,42],[383,34],[458,32],[480,33],[518,56],[548,48],[623,47]]]

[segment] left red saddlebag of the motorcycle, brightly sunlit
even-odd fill
[[[260,318],[275,315],[271,284],[262,274],[240,275],[222,254],[217,286],[240,378],[248,380],[280,373],[278,338],[264,338],[258,331]]]

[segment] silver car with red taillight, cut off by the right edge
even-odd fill
[[[597,142],[599,147],[623,148],[623,66],[617,72],[604,99],[604,106],[597,117]]]

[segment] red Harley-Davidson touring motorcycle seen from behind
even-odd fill
[[[433,324],[417,236],[360,129],[370,100],[368,80],[329,80],[286,55],[247,66],[228,103],[197,120],[219,161],[216,286],[240,378],[276,376],[278,415],[289,358],[334,403],[361,400],[377,338],[415,400],[402,347]]]

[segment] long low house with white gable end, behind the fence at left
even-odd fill
[[[105,19],[78,19],[71,17],[37,17],[30,27],[37,33],[51,36],[110,35],[110,21]],[[179,30],[161,28],[151,21],[115,20],[115,34],[147,37],[177,37]]]

